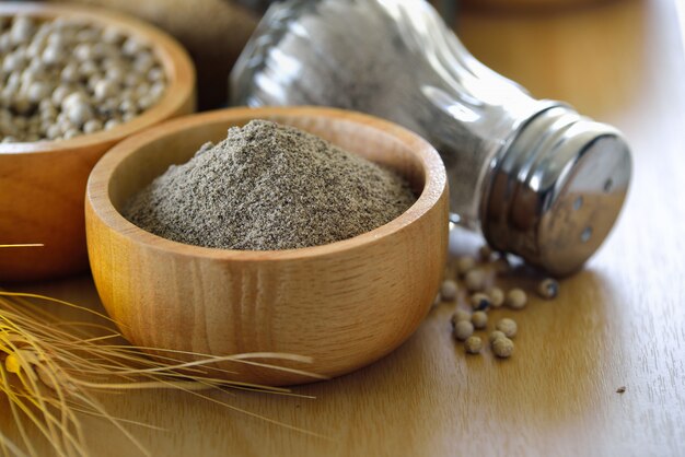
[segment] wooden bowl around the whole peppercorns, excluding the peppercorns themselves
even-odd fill
[[[181,45],[159,30],[125,15],[84,7],[0,2],[0,15],[18,13],[115,25],[152,46],[169,85],[154,107],[112,130],[71,140],[0,144],[0,245],[45,245],[2,248],[0,281],[39,280],[86,269],[83,198],[93,165],[124,138],[195,109],[193,63]]]

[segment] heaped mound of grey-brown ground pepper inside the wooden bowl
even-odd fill
[[[357,236],[415,201],[396,173],[295,128],[253,120],[172,165],[124,215],[181,243],[274,250]]]

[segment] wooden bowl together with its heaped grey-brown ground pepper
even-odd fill
[[[428,314],[446,259],[448,195],[437,151],[368,115],[185,116],[123,141],[93,169],[91,269],[107,313],[139,347],[258,353],[338,376],[393,351]],[[218,367],[211,376],[316,380]]]

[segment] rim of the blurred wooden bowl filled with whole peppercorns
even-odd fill
[[[162,98],[141,115],[111,129],[82,134],[68,140],[0,143],[0,156],[12,154],[57,153],[60,151],[88,150],[96,144],[116,143],[176,113],[195,92],[195,67],[185,48],[165,32],[136,17],[111,10],[76,4],[37,2],[0,2],[0,16],[26,14],[32,17],[55,19],[65,15],[83,19],[98,25],[114,25],[127,35],[146,42],[162,61],[167,85]]]

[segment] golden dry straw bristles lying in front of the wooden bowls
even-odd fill
[[[142,454],[148,455],[125,426],[128,421],[112,417],[96,400],[95,395],[101,391],[178,389],[256,417],[258,415],[249,411],[210,398],[200,390],[231,388],[294,395],[283,388],[212,377],[211,373],[217,373],[219,368],[209,365],[218,362],[233,361],[323,378],[255,361],[280,359],[311,362],[309,358],[292,354],[211,356],[155,349],[156,353],[163,355],[152,360],[143,352],[151,348],[120,344],[117,341],[120,341],[121,336],[107,326],[60,323],[27,298],[46,300],[94,313],[56,298],[0,290],[0,395],[4,395],[10,402],[10,410],[22,440],[22,443],[13,443],[0,430],[0,455],[37,455],[28,438],[25,423],[33,424],[47,438],[56,455],[88,455],[78,413],[105,418],[135,443]],[[102,329],[107,329],[108,333],[96,336],[94,329],[101,332]],[[194,361],[188,362],[188,358]],[[260,418],[288,429],[314,434]]]

